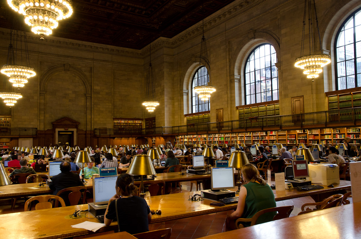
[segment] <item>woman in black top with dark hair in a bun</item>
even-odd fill
[[[135,196],[138,188],[134,185],[133,177],[126,173],[120,174],[115,188],[117,194],[109,199],[108,207],[105,210],[105,225],[109,226],[114,219],[118,219],[120,231],[130,234],[149,231],[148,224],[152,219],[151,210],[143,198]]]

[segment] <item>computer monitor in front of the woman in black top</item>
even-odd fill
[[[116,195],[115,185],[118,176],[93,178],[93,204],[107,204]]]

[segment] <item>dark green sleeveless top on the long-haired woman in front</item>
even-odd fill
[[[269,185],[262,186],[260,183],[249,182],[243,187],[247,189],[247,196],[242,218],[251,218],[260,210],[276,207],[274,194]],[[265,213],[258,218],[256,224],[270,222],[275,215],[275,212]],[[249,226],[251,223],[244,222],[243,225]]]

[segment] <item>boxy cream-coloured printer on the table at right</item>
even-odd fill
[[[340,184],[339,166],[337,164],[309,164],[308,170],[312,183]]]

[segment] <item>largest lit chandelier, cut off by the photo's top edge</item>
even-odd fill
[[[52,34],[58,21],[70,17],[73,13],[70,0],[7,0],[9,6],[25,16],[25,23],[31,31],[39,34],[44,40],[45,35]]]

